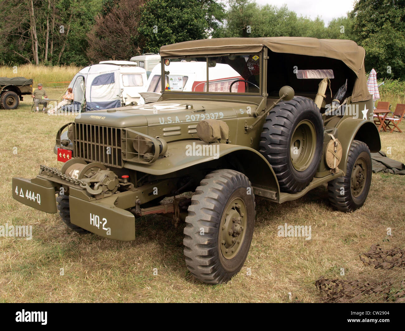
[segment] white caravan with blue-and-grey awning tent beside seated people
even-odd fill
[[[102,110],[137,104],[139,93],[146,91],[145,69],[124,63],[129,61],[103,62],[83,68],[70,82],[75,110]]]

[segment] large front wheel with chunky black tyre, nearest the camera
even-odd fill
[[[196,188],[184,228],[188,270],[209,284],[225,283],[241,270],[253,236],[254,194],[238,171],[209,173]]]

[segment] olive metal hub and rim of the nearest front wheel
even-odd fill
[[[242,246],[246,227],[246,206],[241,198],[228,203],[220,224],[220,247],[226,259],[232,259]]]

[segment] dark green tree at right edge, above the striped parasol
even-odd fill
[[[382,78],[405,79],[405,1],[360,0],[350,13],[355,41],[366,51],[365,66]]]

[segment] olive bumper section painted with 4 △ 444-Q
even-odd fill
[[[34,184],[30,179],[16,178],[12,180],[13,198],[24,205],[45,211],[56,213],[56,196],[54,187],[45,187]]]

